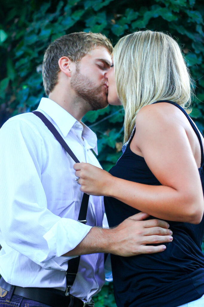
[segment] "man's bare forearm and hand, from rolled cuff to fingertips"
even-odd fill
[[[169,224],[157,219],[144,220],[147,217],[149,217],[148,214],[140,212],[112,229],[92,227],[80,244],[65,255],[111,253],[128,257],[164,251],[165,245],[151,246],[151,244],[172,241]]]

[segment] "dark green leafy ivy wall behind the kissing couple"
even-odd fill
[[[0,8],[0,126],[34,110],[45,96],[43,53],[51,41],[78,31],[101,32],[113,42],[139,29],[171,33],[181,45],[196,81],[192,118],[204,129],[204,46],[202,0],[8,0]],[[90,111],[83,121],[98,136],[98,159],[110,169],[121,155],[123,110]],[[96,307],[115,306],[104,286]]]

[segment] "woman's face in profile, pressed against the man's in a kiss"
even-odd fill
[[[121,105],[121,102],[117,95],[117,88],[115,83],[115,70],[112,59],[112,66],[108,72],[106,72],[105,77],[107,80],[106,85],[108,87],[108,103],[114,106]]]

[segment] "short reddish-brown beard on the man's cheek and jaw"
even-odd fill
[[[89,104],[91,110],[99,110],[107,107],[108,91],[102,83],[96,86],[88,77],[82,75],[79,69],[76,69],[75,74],[71,78],[71,86],[75,90],[79,99],[82,98]]]

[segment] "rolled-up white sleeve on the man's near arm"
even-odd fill
[[[41,183],[43,139],[24,120],[0,130],[0,225],[6,244],[48,270],[66,270],[61,256],[76,247],[91,226],[47,209]]]

